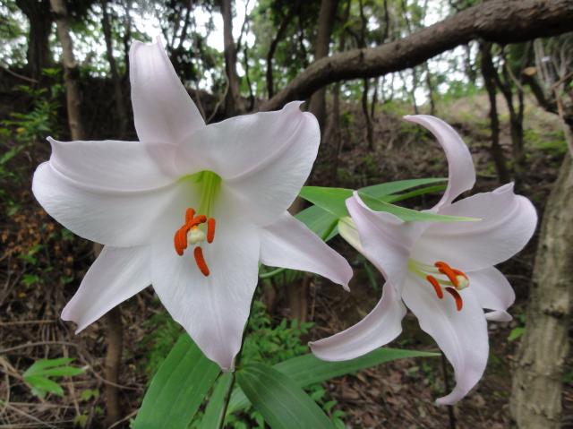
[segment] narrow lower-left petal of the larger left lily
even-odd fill
[[[104,247],[62,312],[76,333],[151,284],[149,247]]]

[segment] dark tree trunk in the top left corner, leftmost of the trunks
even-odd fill
[[[52,31],[52,15],[49,0],[16,0],[16,5],[30,22],[28,33],[28,51],[26,59],[30,77],[41,80],[42,69],[52,64],[49,37]]]

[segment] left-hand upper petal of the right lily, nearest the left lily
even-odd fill
[[[423,224],[404,222],[385,211],[373,211],[356,192],[346,200],[346,208],[360,236],[361,247],[357,250],[399,291],[406,277],[411,248],[423,231]],[[344,234],[343,231],[343,237]]]

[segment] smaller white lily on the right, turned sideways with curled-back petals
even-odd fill
[[[406,304],[454,367],[455,389],[437,400],[452,404],[482,377],[489,352],[486,319],[511,319],[506,310],[515,293],[493,265],[526,245],[537,215],[529,200],[513,193],[513,184],[453,202],[475,184],[466,144],[436,117],[406,116],[406,120],[429,129],[449,162],[446,191],[429,211],[481,220],[404,222],[369,209],[354,193],[346,200],[352,219],[339,223],[340,234],[381,270],[386,284],[381,301],[361,322],[311,347],[324,360],[362,356],[398,337]],[[483,308],[492,311],[484,313]]]

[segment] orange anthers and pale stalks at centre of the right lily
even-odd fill
[[[408,270],[428,281],[440,299],[444,297],[445,289],[454,298],[458,312],[461,311],[464,300],[459,291],[469,286],[469,279],[464,271],[451,268],[446,262],[438,261],[428,265],[414,259],[408,260]]]

